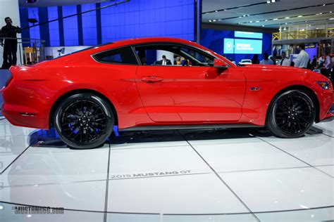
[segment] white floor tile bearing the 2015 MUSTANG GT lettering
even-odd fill
[[[212,173],[187,146],[111,150],[109,178]]]

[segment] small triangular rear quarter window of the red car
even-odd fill
[[[137,59],[130,47],[111,49],[110,51],[97,53],[94,55],[94,58],[101,63],[138,65]]]

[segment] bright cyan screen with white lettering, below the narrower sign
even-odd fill
[[[262,40],[235,39],[235,54],[261,54]]]

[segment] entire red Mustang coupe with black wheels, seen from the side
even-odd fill
[[[161,60],[166,55],[166,60]],[[120,131],[267,126],[302,136],[331,116],[321,74],[278,65],[236,66],[192,41],[145,38],[11,67],[2,111],[11,124],[55,126],[73,148]]]

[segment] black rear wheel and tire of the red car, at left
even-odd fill
[[[113,131],[113,123],[109,103],[90,93],[64,99],[54,116],[54,126],[61,140],[77,149],[97,148],[104,144]]]

